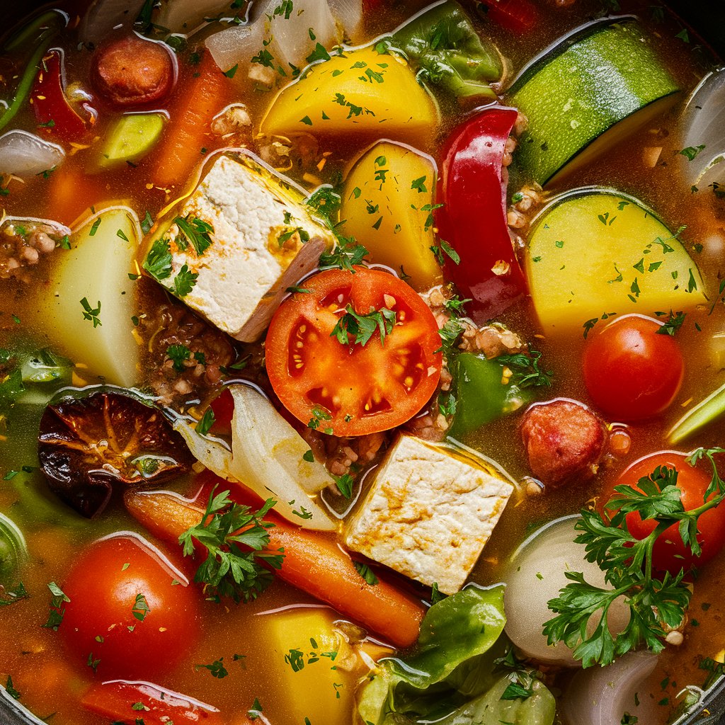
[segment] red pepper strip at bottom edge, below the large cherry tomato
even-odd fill
[[[80,698],[86,710],[104,718],[135,725],[223,725],[217,708],[150,682],[111,680],[93,684]]]

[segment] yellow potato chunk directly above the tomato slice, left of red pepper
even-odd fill
[[[381,141],[357,161],[342,193],[345,233],[367,247],[373,261],[407,275],[417,290],[442,281],[431,251],[435,187],[433,159]]]

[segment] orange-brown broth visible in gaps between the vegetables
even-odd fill
[[[521,67],[526,59],[555,40],[564,30],[579,25],[601,8],[596,0],[579,0],[572,7],[558,9],[553,7],[553,3],[544,0],[537,4],[541,6],[545,22],[528,38],[515,38],[490,23],[484,26],[486,36],[500,46],[515,68]],[[376,14],[376,17],[370,18],[368,24],[370,38],[394,28],[408,14],[423,5],[420,1],[399,3],[384,13]],[[703,72],[700,57],[691,52],[691,47],[684,46],[674,38],[679,27],[671,20],[665,24],[653,23],[650,13],[647,12],[647,5],[648,3],[644,3],[645,9],[641,15],[644,25],[660,35],[659,49],[683,88],[694,87]],[[630,6],[623,2],[623,6],[624,11],[638,9],[634,4]],[[72,17],[76,17],[79,8],[69,9]],[[66,52],[69,81],[72,81],[74,75],[84,78],[90,54],[75,49],[72,39],[67,43]],[[4,64],[4,72],[5,67]],[[183,92],[184,80],[194,69],[181,62],[180,70],[180,82],[168,106],[171,115],[175,112],[175,98]],[[268,103],[270,97],[271,94],[249,93],[241,94],[239,99],[249,103],[252,111],[257,112]],[[96,135],[99,138],[104,135],[104,126],[112,117],[109,112],[101,114],[96,126]],[[453,123],[455,116],[451,117],[449,126]],[[674,191],[672,166],[660,163],[650,169],[642,162],[642,147],[647,145],[663,145],[661,160],[667,162],[671,159],[678,149],[674,139],[674,123],[674,116],[657,120],[616,149],[612,149],[608,156],[599,159],[595,165],[581,170],[576,177],[569,178],[566,182],[567,188],[597,183],[629,192],[658,210],[670,228],[687,225],[684,238],[689,241],[704,241],[713,233],[722,235],[725,216],[722,202],[719,209],[716,209],[710,196],[695,194],[688,196],[683,203],[682,197]],[[17,116],[14,127],[36,130],[35,119],[28,109]],[[655,144],[652,141],[653,130],[659,131]],[[444,131],[441,135],[444,135]],[[210,152],[215,148],[215,143],[221,145],[220,141],[212,139],[210,136]],[[326,177],[324,181],[331,181],[334,172],[343,167],[360,149],[355,146],[355,139],[351,138],[344,139],[338,148],[331,150],[334,153],[323,173]],[[71,223],[76,215],[91,204],[101,204],[109,199],[129,199],[131,207],[139,216],[143,216],[146,210],[155,216],[170,198],[174,198],[174,192],[178,190],[171,190],[167,194],[166,190],[154,186],[150,172],[154,166],[154,154],[155,152],[149,154],[136,168],[122,167],[111,173],[86,175],[84,165],[88,154],[80,151],[68,157],[65,165],[48,179],[38,177],[28,179],[25,184],[14,183],[11,194],[2,197],[0,202],[9,215],[59,218],[65,223]],[[203,157],[200,156],[199,164],[202,162]],[[70,180],[73,186],[70,186],[72,193],[68,192],[68,198],[72,201],[63,202],[63,186]],[[304,183],[299,179],[297,181]],[[76,184],[81,186],[75,186]],[[707,289],[715,291],[718,285],[716,259],[708,259],[706,253],[696,255],[695,259],[703,272]],[[34,320],[41,318],[43,310],[36,305],[33,285],[42,286],[47,278],[48,266],[41,264],[36,269],[33,283],[26,287],[21,285],[14,290],[11,282],[1,283],[1,347],[12,348],[21,338],[31,339],[35,347],[43,347],[42,334],[34,327]],[[161,299],[152,283],[144,283],[144,290],[148,305]],[[20,317],[20,326],[14,323],[11,315]],[[694,318],[695,315],[689,317]],[[707,342],[713,333],[723,329],[724,317],[723,306],[718,305],[713,315],[703,314],[697,317],[702,327],[701,332],[698,333],[692,325],[688,325],[687,329],[679,333],[679,341],[687,355],[687,373],[682,392],[671,409],[661,418],[629,426],[632,444],[625,457],[603,468],[597,479],[589,485],[569,487],[561,492],[513,500],[510,503],[473,573],[475,581],[481,584],[498,581],[499,564],[532,526],[558,515],[573,513],[587,505],[627,463],[662,447],[663,432],[682,415],[683,407],[692,400],[701,399],[722,383],[721,370],[713,365],[712,358],[708,355]],[[550,343],[539,335],[534,319],[531,307],[526,303],[508,310],[503,317],[503,321],[513,330],[526,339],[535,341],[536,346],[544,352],[547,367],[555,372],[555,383],[548,397],[566,396],[588,402],[579,364],[584,340],[577,335],[567,340],[566,344],[560,344],[560,341],[556,344]],[[515,431],[517,423],[518,418],[515,415],[492,423],[472,443],[479,445],[481,450],[504,465],[513,476],[521,477],[528,471]],[[0,441],[0,474],[18,469],[21,465],[36,465],[33,426],[37,426],[37,420],[30,417],[25,426],[18,428],[16,434]],[[711,426],[692,442],[688,442],[688,446],[722,444],[718,432],[718,426]],[[75,519],[69,525],[67,512],[62,505],[52,500],[50,494],[46,495],[46,508],[33,517],[23,501],[27,489],[43,490],[45,484],[41,477],[37,473],[22,473],[12,481],[1,481],[0,484],[0,510],[12,515],[23,526],[32,557],[30,566],[22,573],[22,580],[31,593],[30,599],[12,607],[0,608],[0,682],[5,682],[7,675],[11,674],[14,687],[22,693],[22,703],[41,718],[55,713],[51,720],[54,725],[107,725],[105,718],[92,716],[78,704],[80,694],[94,681],[91,669],[84,666],[85,663],[70,662],[62,650],[59,635],[41,628],[48,613],[49,592],[46,584],[49,581],[62,583],[75,555],[89,542],[112,531],[136,531],[139,527],[120,510],[104,515],[98,521]],[[184,482],[181,481],[177,488],[183,491]],[[669,702],[674,703],[674,695],[682,685],[703,681],[703,672],[697,670],[700,656],[712,656],[725,647],[725,634],[720,626],[721,614],[716,608],[706,613],[700,606],[703,602],[718,602],[718,593],[722,591],[724,584],[725,559],[721,558],[711,563],[697,580],[691,624],[685,631],[685,644],[679,650],[670,648],[663,655],[661,666],[653,675],[651,697],[661,700],[667,696]],[[204,602],[202,621],[199,623],[203,634],[202,644],[185,663],[165,676],[164,682],[159,684],[217,706],[225,713],[228,725],[241,721],[244,713],[251,707],[254,697],[259,697],[265,707],[265,716],[270,722],[274,725],[287,725],[289,721],[283,711],[283,698],[276,695],[276,692],[283,691],[285,683],[270,681],[268,642],[265,642],[263,625],[260,624],[263,620],[256,615],[284,605],[304,603],[312,602],[306,595],[281,581],[276,581],[260,600],[249,605],[231,605],[227,608]],[[88,602],[88,606],[92,607],[93,603]],[[693,617],[700,623],[698,628],[692,626]],[[235,653],[247,655],[246,668],[242,669],[229,661]],[[213,679],[207,671],[194,669],[194,663],[210,663],[222,656],[231,665],[231,674],[225,679]],[[665,676],[669,677],[670,684],[660,688],[659,683]],[[352,692],[355,679],[348,677],[345,687],[347,693]],[[669,705],[663,705],[663,721],[668,711]],[[339,719],[336,723],[325,725],[343,725],[355,721],[352,700],[346,695],[341,699]]]

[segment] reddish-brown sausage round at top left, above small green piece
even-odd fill
[[[109,103],[138,106],[169,93],[175,79],[174,60],[160,43],[128,36],[96,51],[91,76]]]

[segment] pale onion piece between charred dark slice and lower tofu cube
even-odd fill
[[[309,449],[297,431],[277,413],[262,394],[247,385],[232,385],[233,459],[230,472],[262,498],[277,499],[275,511],[306,529],[332,531],[336,523],[320,504],[309,497],[333,479],[318,461],[302,456]],[[301,506],[311,518],[301,518],[294,510]]]

